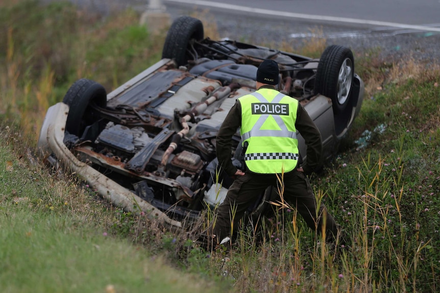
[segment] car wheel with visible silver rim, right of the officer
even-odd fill
[[[324,50],[316,70],[314,92],[332,100],[335,115],[348,104],[353,75],[354,58],[349,48],[331,45]]]

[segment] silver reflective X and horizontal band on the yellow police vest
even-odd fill
[[[269,103],[269,101],[260,93],[254,92],[250,95],[253,95],[260,101],[261,103]],[[272,102],[270,103],[279,103],[282,98],[284,98],[284,94],[279,93],[277,94]],[[275,119],[275,122],[277,122],[278,127],[280,127],[280,130],[260,130],[261,126],[263,126],[266,119],[269,117],[269,115],[272,114],[262,114],[258,118],[257,122],[252,126],[252,129],[244,134],[241,135],[241,140],[245,141],[252,137],[279,137],[279,138],[292,138],[297,139],[297,133],[294,131],[289,131],[287,129],[286,124],[284,123],[283,119],[279,115],[272,115],[272,117]]]

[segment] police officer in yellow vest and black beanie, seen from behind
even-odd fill
[[[284,200],[295,206],[307,225],[322,231],[326,217],[327,241],[337,234],[333,217],[322,203],[316,217],[316,200],[306,174],[319,163],[321,134],[297,99],[275,89],[279,83],[278,64],[263,61],[257,70],[257,91],[237,99],[217,134],[219,166],[235,178],[226,199],[218,208],[213,228],[216,242],[231,235],[248,207],[267,187],[277,186],[283,174]],[[231,160],[232,137],[240,127],[246,170]],[[299,166],[297,130],[307,145],[307,162]]]

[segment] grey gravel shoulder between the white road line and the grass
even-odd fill
[[[48,3],[58,0],[41,0]],[[69,0],[78,7],[107,15],[122,9],[134,9],[139,13],[148,8],[149,0]],[[216,23],[219,36],[240,41],[252,40],[259,44],[287,42],[292,50],[301,47],[311,37],[326,39],[327,45],[350,47],[355,53],[374,51],[387,62],[413,58],[426,63],[440,61],[440,33],[390,28],[366,28],[362,25],[316,23],[307,20],[273,19],[258,15],[242,15],[234,12],[210,11],[197,7],[164,3],[166,13],[173,20],[181,15],[205,15]]]

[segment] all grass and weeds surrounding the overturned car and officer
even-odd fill
[[[205,35],[219,35],[206,12],[200,18]],[[259,219],[262,230],[242,225],[231,250],[204,252],[186,233],[118,210],[75,176],[43,168],[32,155],[36,134],[72,82],[88,77],[110,91],[160,58],[163,37],[138,19],[69,4],[0,4],[2,291],[438,291],[436,64],[355,52],[362,110],[339,155],[310,178],[317,201],[343,226],[344,246],[325,245],[284,203]],[[325,40],[281,46],[319,57]]]

